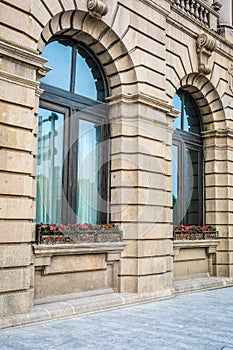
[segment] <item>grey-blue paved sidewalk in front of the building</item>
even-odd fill
[[[0,331],[1,350],[230,350],[233,287]]]

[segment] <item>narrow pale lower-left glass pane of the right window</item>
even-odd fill
[[[172,208],[173,225],[178,225],[178,147],[172,146]]]

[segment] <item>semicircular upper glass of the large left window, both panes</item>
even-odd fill
[[[60,39],[45,46],[43,56],[52,70],[42,83],[70,91],[92,100],[105,99],[105,83],[97,60],[82,45]]]

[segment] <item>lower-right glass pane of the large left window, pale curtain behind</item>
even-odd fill
[[[77,221],[98,223],[100,201],[101,127],[79,121]]]

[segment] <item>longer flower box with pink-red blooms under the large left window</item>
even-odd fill
[[[37,244],[121,242],[122,238],[122,230],[116,224],[37,225]]]

